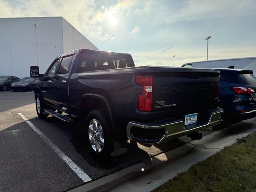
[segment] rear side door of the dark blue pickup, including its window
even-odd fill
[[[58,70],[52,76],[50,84],[51,102],[57,108],[68,108],[68,72],[73,60],[72,55],[62,56],[59,60]]]

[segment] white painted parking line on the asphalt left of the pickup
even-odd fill
[[[66,156],[50,139],[48,139],[34,124],[32,124],[22,113],[18,113],[24,121],[40,136],[46,144],[56,152],[56,154],[64,160],[64,162],[82,179],[83,182],[92,180],[77,164],[75,164],[68,156]]]

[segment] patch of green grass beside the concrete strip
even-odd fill
[[[178,191],[256,192],[256,132],[154,190]]]

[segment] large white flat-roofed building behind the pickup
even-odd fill
[[[44,73],[56,56],[77,48],[98,50],[62,17],[0,18],[0,76]]]

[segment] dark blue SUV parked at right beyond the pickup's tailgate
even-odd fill
[[[216,68],[220,71],[220,107],[223,120],[232,122],[256,116],[256,77],[251,70]]]

